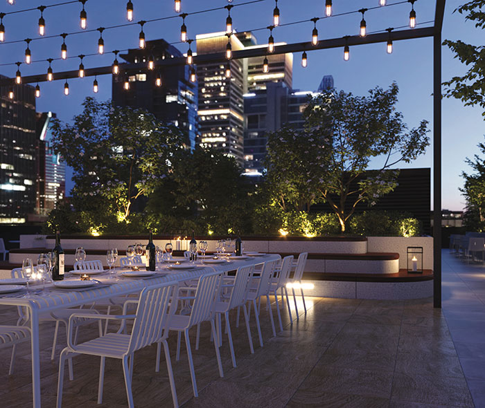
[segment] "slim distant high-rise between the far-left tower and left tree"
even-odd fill
[[[52,118],[55,113],[37,113],[37,197],[35,214],[46,216],[66,195],[66,165],[51,146]]]

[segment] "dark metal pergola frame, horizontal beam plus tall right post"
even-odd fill
[[[390,30],[386,33],[369,34],[366,37],[346,36],[333,39],[319,40],[314,45],[311,41],[274,46],[272,54],[297,53],[308,50],[323,50],[327,48],[343,48],[344,46],[358,46],[365,44],[387,43],[405,39],[433,38],[433,272],[434,272],[434,307],[441,308],[441,30],[446,0],[436,0],[433,26],[426,28],[407,28]],[[182,15],[181,15],[182,16]],[[117,53],[117,51],[116,51]],[[232,59],[250,57],[264,57],[266,48],[250,48],[235,50]],[[227,62],[226,53],[211,53],[195,55],[193,64],[206,62]],[[163,66],[185,65],[185,57],[159,59],[155,61],[155,68]],[[146,68],[145,62],[130,64],[131,69]],[[120,64],[123,71],[123,64]],[[85,69],[85,76],[111,75],[112,66],[100,66]],[[56,79],[67,80],[77,78],[78,71],[63,71],[55,73]],[[45,73],[22,77],[23,84],[46,82]],[[0,86],[12,86],[12,79],[0,80]]]

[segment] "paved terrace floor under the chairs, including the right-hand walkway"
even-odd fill
[[[482,272],[482,270],[484,272]],[[186,352],[175,362],[170,351],[179,402],[183,407],[482,407],[485,401],[485,268],[467,266],[443,252],[443,310],[432,299],[405,302],[356,299],[307,299],[300,319],[271,337],[262,309],[264,347],[249,352],[245,327],[234,327],[238,367],[231,366],[229,345],[222,344],[224,378],[218,375],[208,328],[202,331],[194,364],[200,396],[193,398]],[[264,306],[263,306],[264,307]],[[276,309],[273,306],[276,317]],[[294,311],[293,311],[294,313]],[[15,313],[0,310],[1,322]],[[449,328],[448,328],[448,324]],[[55,406],[57,363],[49,362],[52,324],[42,324],[42,398]],[[451,334],[450,334],[451,332]],[[84,328],[82,338],[94,330]],[[81,340],[82,340],[81,338]],[[195,333],[193,334],[195,340]],[[60,338],[58,353],[64,344]],[[15,374],[8,377],[9,353],[0,350],[0,395],[3,406],[30,404],[29,350],[19,351]],[[155,349],[136,355],[136,407],[170,407],[164,362],[154,372]],[[121,363],[107,360],[103,405],[96,405],[98,358],[74,359],[75,380],[66,380],[63,407],[126,407]],[[470,391],[471,394],[470,394]]]

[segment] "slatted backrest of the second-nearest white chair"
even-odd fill
[[[219,299],[222,275],[224,272],[211,272],[200,277],[188,327],[212,318],[215,302]]]

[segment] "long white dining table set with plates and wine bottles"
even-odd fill
[[[120,277],[121,273],[116,272],[116,279],[103,279],[102,283],[94,288],[83,288],[68,290],[55,288],[52,284],[46,285],[47,293],[32,295],[31,297],[15,297],[15,294],[0,295],[0,305],[23,306],[30,312],[30,328],[32,331],[31,353],[32,353],[32,393],[33,407],[41,407],[40,393],[40,354],[39,354],[39,314],[55,312],[64,308],[72,308],[85,304],[93,304],[103,299],[119,297],[139,293],[143,288],[161,284],[167,281],[188,281],[197,279],[207,272],[220,271],[229,272],[240,266],[250,264],[257,265],[265,261],[279,259],[277,254],[265,254],[263,256],[247,257],[247,259],[233,259],[224,263],[202,263],[196,262],[196,267],[191,270],[170,270],[168,265],[158,265],[155,275],[143,278]],[[79,276],[69,274],[65,280],[80,279]],[[113,281],[113,283],[111,283]]]

